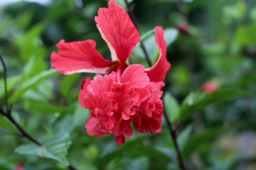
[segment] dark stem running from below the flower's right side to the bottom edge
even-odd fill
[[[181,156],[180,150],[179,150],[179,146],[178,146],[178,143],[177,143],[177,132],[176,132],[176,129],[173,128],[174,126],[172,125],[172,123],[168,119],[168,116],[165,113],[165,111],[163,111],[163,115],[164,115],[164,118],[165,118],[165,120],[166,120],[166,122],[168,124],[170,135],[172,137],[175,150],[177,152],[178,161],[179,161],[179,168],[182,169],[182,170],[186,170],[185,165],[184,165],[183,160],[182,160],[182,156]]]

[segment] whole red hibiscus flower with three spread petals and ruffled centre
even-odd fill
[[[90,109],[85,125],[89,135],[113,134],[116,144],[124,144],[132,135],[132,122],[138,132],[154,134],[161,131],[163,80],[171,64],[166,59],[164,31],[156,26],[155,41],[159,47],[156,64],[145,69],[128,64],[127,59],[140,41],[140,35],[127,12],[114,0],[108,8],[100,8],[96,26],[107,43],[113,61],[105,60],[96,50],[94,40],[66,43],[61,40],[52,52],[51,64],[63,74],[80,72],[96,75],[83,79],[78,101]]]

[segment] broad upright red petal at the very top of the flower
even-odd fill
[[[140,35],[125,9],[110,0],[108,8],[99,8],[95,22],[111,51],[112,60],[126,62],[140,41]]]

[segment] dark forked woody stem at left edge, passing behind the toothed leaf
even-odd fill
[[[12,117],[11,115],[11,110],[12,110],[12,105],[8,108],[8,96],[7,96],[7,80],[6,80],[6,72],[7,72],[7,69],[6,69],[6,65],[5,65],[5,62],[0,54],[0,60],[1,60],[1,63],[3,65],[3,68],[4,68],[4,82],[5,82],[5,91],[6,91],[6,111],[4,111],[4,109],[2,109],[0,107],[0,115],[6,117],[8,120],[10,120],[10,122],[12,122],[15,127],[20,131],[21,135],[23,137],[26,137],[28,140],[30,140],[31,142],[37,144],[38,146],[42,146],[43,144],[40,143],[37,139],[33,138],[31,135],[29,135],[25,129],[23,129],[19,123]],[[73,165],[69,165],[68,166],[69,170],[77,170]]]

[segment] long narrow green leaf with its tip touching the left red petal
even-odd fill
[[[39,83],[43,79],[48,78],[49,76],[52,76],[56,73],[57,72],[53,71],[53,69],[49,69],[49,70],[43,71],[43,72],[39,73],[38,75],[24,81],[21,84],[21,86],[19,87],[19,89],[17,91],[15,91],[14,94],[9,98],[8,102],[10,104],[16,102],[28,89],[34,87],[37,83]]]

